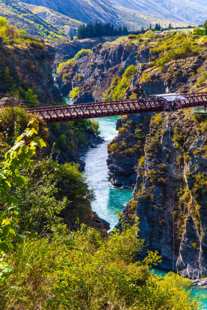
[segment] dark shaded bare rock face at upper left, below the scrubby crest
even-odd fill
[[[14,46],[0,43],[0,47],[3,71],[0,77],[1,93],[7,93],[15,83],[16,89],[21,87],[23,92],[31,88],[33,94],[38,94],[41,103],[48,104],[61,100],[62,96],[54,86],[52,77],[54,48],[39,42],[30,42],[29,45],[22,43],[22,45],[16,44]]]

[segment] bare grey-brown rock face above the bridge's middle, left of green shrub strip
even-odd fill
[[[149,49],[140,51],[139,45],[119,41],[98,44],[92,49],[92,53],[67,65],[59,73],[59,89],[67,96],[73,88],[79,87],[77,102],[103,100],[103,93],[110,87],[115,76],[121,76],[130,65],[148,61]]]

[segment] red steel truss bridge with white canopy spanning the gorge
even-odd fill
[[[104,118],[114,115],[169,111],[207,105],[207,92],[162,94],[149,98],[42,106],[26,111],[39,115],[46,123]]]

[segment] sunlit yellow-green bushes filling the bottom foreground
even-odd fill
[[[37,308],[41,300],[44,309],[98,310],[103,304],[114,309],[198,309],[199,302],[185,290],[188,279],[149,274],[149,266],[160,261],[157,253],[149,252],[143,264],[134,263],[143,246],[137,232],[136,220],[108,239],[85,225],[76,232],[57,230],[50,241],[28,239],[10,257],[16,268],[0,291],[0,303],[4,308]]]

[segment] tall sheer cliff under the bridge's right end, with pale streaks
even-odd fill
[[[169,115],[165,130],[163,113],[152,117],[141,145],[145,158],[123,213],[129,222],[140,218],[140,236],[146,250],[161,254],[160,267],[198,279],[207,275],[207,123],[190,109],[171,112],[170,119],[169,137]]]

